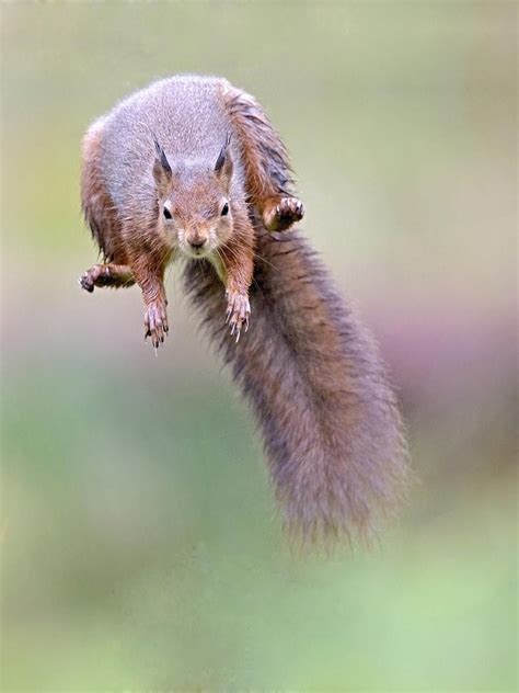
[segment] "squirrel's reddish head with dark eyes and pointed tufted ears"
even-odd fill
[[[215,252],[232,232],[232,158],[228,136],[215,161],[168,160],[155,144],[153,178],[159,228],[189,258]]]

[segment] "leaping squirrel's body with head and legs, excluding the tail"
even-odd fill
[[[119,103],[83,140],[82,207],[104,255],[80,283],[129,286],[145,300],[145,337],[157,349],[169,331],[164,270],[182,254],[209,258],[226,286],[237,341],[247,329],[254,229],[304,214],[289,193],[288,157],[258,103],[227,80],[161,80]]]

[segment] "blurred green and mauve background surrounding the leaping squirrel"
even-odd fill
[[[517,686],[517,4],[4,3],[4,691]],[[175,72],[282,133],[303,224],[392,371],[419,484],[370,550],[293,555],[173,271],[86,295],[89,123]]]

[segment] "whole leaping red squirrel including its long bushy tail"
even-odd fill
[[[80,283],[137,283],[157,348],[164,269],[187,259],[185,288],[252,406],[287,532],[370,538],[405,495],[404,428],[372,339],[286,232],[304,214],[293,184],[253,96],[220,78],[155,82],[84,137],[82,208],[104,262]]]

